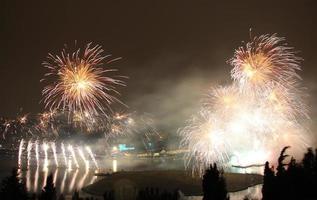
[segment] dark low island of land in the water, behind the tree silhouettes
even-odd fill
[[[225,174],[229,192],[244,190],[250,186],[262,183],[263,177],[258,174]],[[192,177],[188,172],[181,170],[170,171],[131,171],[118,172],[104,176],[103,179],[83,188],[83,191],[102,196],[106,191],[115,191],[115,194],[125,194],[130,197],[146,187],[158,188],[162,191],[179,189],[185,196],[202,195],[202,182],[198,177]]]

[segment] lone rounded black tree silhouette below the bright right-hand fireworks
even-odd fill
[[[220,172],[217,165],[210,165],[205,171],[202,181],[203,200],[225,200],[229,199],[226,181],[223,172]]]

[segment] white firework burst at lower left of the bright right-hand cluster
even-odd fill
[[[188,148],[185,154],[186,167],[193,167],[193,174],[202,174],[211,162],[225,163],[229,160],[230,145],[227,137],[214,116],[208,111],[201,111],[188,121],[180,130],[181,146]]]

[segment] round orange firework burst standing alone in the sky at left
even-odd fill
[[[103,69],[102,62],[109,56],[102,56],[102,53],[101,46],[88,44],[83,53],[80,49],[72,53],[64,49],[60,56],[49,54],[48,61],[43,62],[49,70],[45,80],[53,78],[54,81],[42,91],[45,107],[71,113],[99,114],[106,113],[111,103],[120,102],[109,92],[119,94],[115,86],[125,84],[106,76],[116,70]]]

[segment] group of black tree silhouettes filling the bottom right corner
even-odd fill
[[[317,199],[317,173],[316,155],[312,149],[308,149],[301,163],[297,163],[292,157],[288,164],[283,161],[286,149],[283,148],[278,158],[277,173],[266,162],[262,195],[264,200],[275,199]]]

